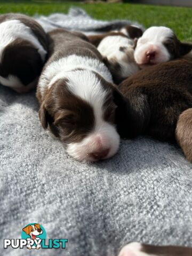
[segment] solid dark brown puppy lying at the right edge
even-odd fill
[[[172,60],[140,70],[122,82],[119,89],[127,99],[126,111],[117,114],[122,137],[148,134],[173,141],[179,115],[192,107],[192,60]],[[183,122],[184,117],[180,118]],[[190,127],[190,122],[187,125]],[[180,132],[181,122],[178,135]],[[186,136],[187,132],[183,139]]]

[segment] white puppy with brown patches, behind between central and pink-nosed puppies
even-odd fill
[[[116,84],[137,73],[139,66],[134,60],[134,38],[142,35],[142,30],[135,26],[127,26],[121,32],[90,36],[89,40],[98,47],[103,61],[111,71]]]

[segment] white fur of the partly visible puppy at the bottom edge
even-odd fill
[[[141,252],[142,245],[137,242],[133,242],[125,245],[122,250],[119,252],[118,256],[157,256],[155,254],[147,254],[145,252]]]

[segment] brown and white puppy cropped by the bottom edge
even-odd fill
[[[118,256],[191,256],[192,248],[181,246],[157,246],[133,242],[127,244]]]

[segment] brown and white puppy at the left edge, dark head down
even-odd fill
[[[37,84],[47,53],[43,28],[23,14],[0,15],[0,83],[23,93]]]

